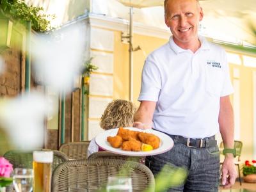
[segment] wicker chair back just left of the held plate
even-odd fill
[[[87,149],[90,141],[72,142],[61,145],[60,151],[69,159],[87,159]]]

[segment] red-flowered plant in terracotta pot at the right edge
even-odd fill
[[[246,160],[243,166],[244,182],[256,182],[256,161]]]

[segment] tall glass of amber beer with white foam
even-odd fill
[[[51,192],[52,151],[33,152],[33,192]]]

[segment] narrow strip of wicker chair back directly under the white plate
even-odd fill
[[[121,159],[125,161],[135,161],[145,164],[145,157],[136,157],[136,156],[123,156],[119,154],[113,154],[108,151],[95,152],[91,154],[88,159]]]

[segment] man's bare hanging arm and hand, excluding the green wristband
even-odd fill
[[[234,148],[234,113],[229,96],[220,97],[219,125],[224,147]],[[237,177],[233,154],[225,154],[221,172],[221,184],[229,188]]]

